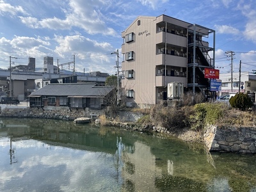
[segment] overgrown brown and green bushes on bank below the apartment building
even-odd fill
[[[201,103],[182,108],[156,105],[150,113],[138,120],[141,125],[159,125],[168,130],[183,129],[184,127],[200,131],[207,124],[223,122],[228,108],[224,104]]]

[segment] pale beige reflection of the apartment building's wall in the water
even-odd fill
[[[150,147],[135,142],[134,147],[125,147],[122,154],[124,188],[133,191],[157,191],[155,178],[161,177],[161,169],[156,166],[156,156]],[[147,183],[145,183],[147,182]]]

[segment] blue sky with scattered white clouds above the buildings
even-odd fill
[[[122,31],[138,16],[163,14],[216,31],[220,73],[231,72],[231,63],[238,72],[240,60],[242,72],[256,70],[255,0],[0,0],[0,68],[10,66],[10,56],[12,66],[33,57],[42,68],[45,56],[57,65],[75,55],[76,72],[115,74],[111,53],[122,52]]]

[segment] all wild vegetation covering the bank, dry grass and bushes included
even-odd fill
[[[223,102],[201,102],[200,95],[196,95],[196,104],[193,104],[191,95],[188,95],[184,97],[182,106],[170,107],[158,104],[150,109],[125,108],[124,110],[143,114],[140,119],[133,122],[136,127],[144,127],[145,130],[164,127],[165,132],[170,132],[178,138],[198,141],[202,140],[206,125],[255,127],[256,113],[248,102],[244,102],[246,98],[244,95],[233,99],[232,105]],[[108,120],[106,115],[100,116],[102,125],[108,125]],[[111,118],[111,121],[120,122],[118,116]]]

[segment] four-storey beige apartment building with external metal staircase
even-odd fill
[[[170,83],[209,97],[204,68],[214,68],[215,31],[160,15],[140,16],[122,32],[122,89],[127,106],[148,108],[172,100]],[[211,46],[211,47],[210,47]]]

